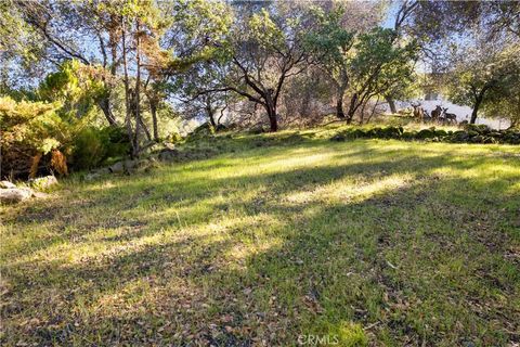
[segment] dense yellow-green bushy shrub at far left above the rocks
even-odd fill
[[[23,95],[20,101],[0,99],[5,175],[11,170],[24,175],[31,165],[37,169],[42,155],[42,165],[51,165],[48,154],[54,150],[72,160],[76,169],[91,168],[108,156],[128,152],[128,137],[120,128],[86,127],[99,113],[95,100],[104,92],[91,73],[91,67],[69,61],[47,76],[35,93],[37,101]],[[38,160],[31,163],[32,157]]]

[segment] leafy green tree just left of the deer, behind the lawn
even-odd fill
[[[376,95],[406,99],[414,92],[415,41],[400,38],[393,29],[349,27],[341,7],[314,9],[314,15],[317,25],[306,35],[306,47],[334,81],[339,105],[346,93],[351,97],[349,119]]]

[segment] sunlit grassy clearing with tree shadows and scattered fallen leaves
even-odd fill
[[[520,147],[273,137],[1,207],[1,345],[520,344]]]

